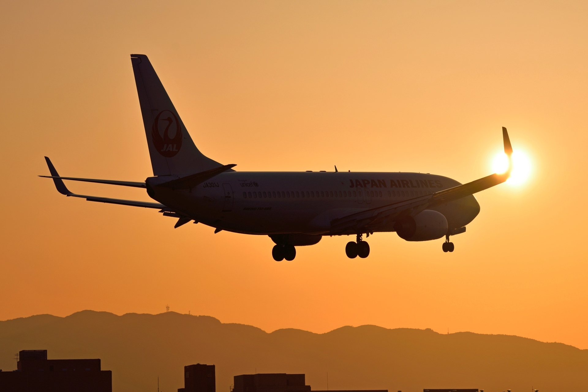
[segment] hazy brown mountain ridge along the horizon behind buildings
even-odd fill
[[[306,373],[313,390],[480,388],[486,392],[586,391],[588,350],[517,336],[430,329],[342,327],[315,334],[266,333],[208,316],[80,311],[0,321],[0,368],[14,370],[14,353],[47,349],[50,359],[100,358],[112,370],[114,392],[175,392],[183,366],[216,365],[216,390],[233,376]]]

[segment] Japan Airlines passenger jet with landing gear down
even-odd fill
[[[356,236],[345,246],[350,258],[368,257],[366,238],[377,232],[396,232],[406,241],[445,237],[466,231],[478,215],[474,193],[505,182],[512,169],[512,146],[506,128],[503,144],[509,157],[505,173],[461,184],[449,177],[407,172],[239,172],[203,155],[186,130],[171,99],[146,55],[131,55],[139,105],[153,176],[144,182],[59,176],[45,157],[58,192],[90,202],[159,210],[175,217],[175,228],[203,223],[242,234],[267,235],[276,261],[291,261],[297,246],[318,243],[324,236]],[[156,202],[78,195],[64,180],[146,189]]]

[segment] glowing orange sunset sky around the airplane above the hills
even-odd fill
[[[0,4],[0,319],[83,309],[207,314],[264,330],[474,331],[588,349],[586,2]],[[196,145],[237,170],[488,175],[500,127],[526,185],[476,195],[467,232],[299,247],[56,192],[151,175],[129,60],[145,53]],[[148,200],[143,190],[70,183]]]

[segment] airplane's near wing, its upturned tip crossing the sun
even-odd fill
[[[473,193],[480,192],[489,187],[505,182],[510,177],[510,171],[512,169],[511,156],[513,152],[512,146],[510,145],[509,135],[505,127],[502,127],[502,137],[505,153],[509,157],[509,168],[505,173],[495,173],[463,185],[440,190],[432,195],[414,197],[413,199],[403,200],[402,202],[375,207],[345,217],[333,219],[331,221],[331,232],[345,232],[347,230],[375,227],[382,223],[393,222],[403,216],[415,216],[429,207],[461,199],[462,197],[473,195]]]

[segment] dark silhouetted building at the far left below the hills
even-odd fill
[[[112,392],[112,371],[99,359],[47,359],[47,350],[19,351],[16,370],[0,370],[2,392]]]

